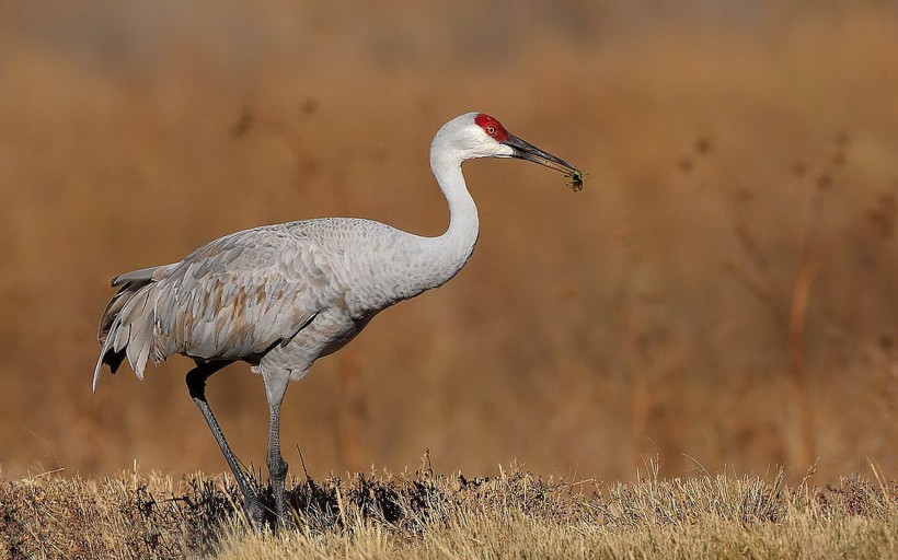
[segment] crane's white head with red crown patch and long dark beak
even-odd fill
[[[510,133],[485,113],[467,113],[439,129],[430,145],[430,161],[461,164],[475,158],[517,158],[545,165],[567,176],[582,177],[572,164]]]

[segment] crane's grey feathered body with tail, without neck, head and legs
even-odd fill
[[[447,254],[440,237],[353,218],[226,235],[180,262],[114,281],[122,289],[101,324],[94,383],[104,361],[127,357],[142,377],[147,362],[175,353],[299,378],[381,310],[449,280],[475,240],[476,232]]]

